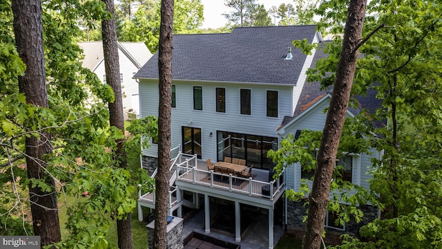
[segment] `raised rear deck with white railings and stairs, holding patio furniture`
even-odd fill
[[[269,207],[274,205],[284,192],[285,176],[269,182],[269,172],[263,169],[253,169],[251,178],[220,174],[209,171],[206,163],[195,156],[180,153],[171,159],[170,185],[169,214],[185,203],[179,189]],[[140,192],[139,209],[141,206],[155,208],[155,192]]]

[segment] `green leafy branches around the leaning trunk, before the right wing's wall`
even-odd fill
[[[345,121],[337,158],[343,158],[347,154],[369,154],[370,146],[365,135],[369,133],[370,129],[365,117],[367,116],[362,115],[361,118],[356,117]],[[318,149],[321,138],[322,131],[302,130],[298,139],[295,139],[293,134],[288,134],[280,143],[277,151],[267,153],[267,156],[276,163],[273,169],[276,174],[273,178],[278,178],[282,174],[282,170],[293,167],[292,165],[297,163],[304,170],[314,171],[316,158],[312,152]],[[335,167],[334,181],[331,185],[332,199],[329,201],[328,209],[338,214],[340,225],[349,222],[350,219],[359,222],[363,217],[363,213],[357,208],[358,205],[367,204],[367,202],[376,204],[377,201],[369,195],[365,188],[343,181],[341,170],[343,170],[342,166]],[[305,199],[309,193],[310,187],[307,179],[301,179],[300,188],[298,190],[287,190],[285,195],[291,201],[300,201]]]

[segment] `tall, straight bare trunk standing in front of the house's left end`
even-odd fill
[[[172,30],[173,0],[161,1],[160,40],[158,46],[158,73],[160,105],[158,108],[158,171],[155,179],[155,232],[153,248],[166,249],[166,217],[171,159],[171,105],[172,105]]]

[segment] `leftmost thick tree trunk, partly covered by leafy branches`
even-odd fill
[[[26,102],[37,107],[48,107],[46,71],[44,65],[41,1],[12,0],[14,33],[17,50],[26,64],[26,72],[19,77],[19,91]],[[45,172],[44,154],[52,154],[50,134],[40,138],[26,138],[26,166],[28,178],[41,179],[52,186],[52,192],[29,185],[30,209],[34,234],[41,237],[41,246],[61,241],[54,179]]]

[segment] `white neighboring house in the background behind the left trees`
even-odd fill
[[[138,83],[133,75],[152,57],[143,42],[118,42],[119,73],[122,81],[123,110],[140,115]],[[102,82],[106,82],[104,70],[103,42],[80,42],[84,51],[83,66],[95,73]]]

